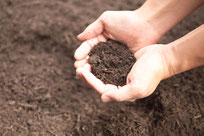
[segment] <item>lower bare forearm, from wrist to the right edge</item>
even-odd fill
[[[204,65],[204,25],[168,46],[171,76]]]

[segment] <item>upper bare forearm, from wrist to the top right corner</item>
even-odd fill
[[[136,12],[162,36],[203,3],[204,0],[147,0]]]

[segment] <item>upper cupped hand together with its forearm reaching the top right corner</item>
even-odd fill
[[[148,0],[135,11],[106,11],[89,25],[78,39],[84,41],[76,50],[77,61],[104,39],[125,43],[133,52],[155,44],[167,31],[201,6],[204,0]]]

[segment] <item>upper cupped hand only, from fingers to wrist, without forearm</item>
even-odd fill
[[[160,35],[137,11],[106,11],[78,36],[84,42],[75,52],[76,60],[85,59],[94,45],[107,38],[120,41],[136,52],[156,43]]]

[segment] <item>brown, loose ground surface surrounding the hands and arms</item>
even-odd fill
[[[163,81],[150,97],[108,103],[75,76],[76,35],[105,10],[133,0],[0,1],[0,135],[126,136],[204,134],[204,68]],[[161,39],[204,22],[200,8]]]

